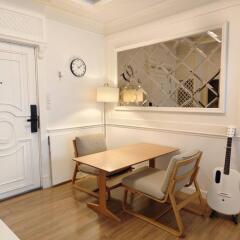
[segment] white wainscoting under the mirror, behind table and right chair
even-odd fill
[[[217,166],[224,166],[226,137],[209,136],[197,133],[182,133],[177,131],[161,131],[131,126],[109,125],[107,128],[107,143],[110,148],[126,144],[147,142],[177,147],[180,150],[199,149],[203,151],[200,163],[199,183],[203,193],[206,193],[212,177],[212,170]],[[234,138],[232,147],[231,167],[240,171],[240,143]],[[159,158],[157,167],[167,167],[171,156]]]

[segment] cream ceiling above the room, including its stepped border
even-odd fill
[[[96,24],[106,34],[220,0],[34,0]]]

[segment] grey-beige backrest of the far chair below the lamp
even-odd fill
[[[75,156],[85,156],[88,154],[106,151],[106,141],[103,134],[89,134],[76,137],[73,140]]]

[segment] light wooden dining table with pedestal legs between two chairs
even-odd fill
[[[149,161],[150,167],[155,167],[155,158],[173,153],[177,150],[178,149],[174,147],[151,143],[138,143],[73,158],[74,161],[99,169],[99,201],[98,203],[88,203],[88,207],[106,217],[120,221],[107,207],[107,175],[145,161]]]

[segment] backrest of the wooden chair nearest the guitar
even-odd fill
[[[201,151],[192,151],[172,157],[164,176],[161,191],[167,193],[171,181],[174,181],[174,191],[191,184],[197,174],[201,156]]]

